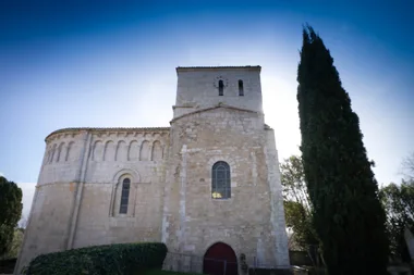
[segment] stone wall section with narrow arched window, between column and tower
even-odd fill
[[[74,248],[161,239],[168,148],[169,128],[93,134]],[[120,214],[125,177],[129,208]]]

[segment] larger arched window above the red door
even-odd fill
[[[229,199],[230,197],[230,166],[223,161],[216,162],[211,170],[211,198]]]

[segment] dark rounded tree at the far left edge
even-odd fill
[[[0,255],[11,249],[22,208],[22,189],[0,176]]]

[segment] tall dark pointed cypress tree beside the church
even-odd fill
[[[327,271],[387,274],[386,215],[374,163],[333,59],[310,26],[303,29],[297,82],[305,180]]]

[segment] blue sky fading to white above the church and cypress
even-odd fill
[[[27,214],[48,134],[169,126],[175,67],[192,65],[261,65],[279,159],[299,153],[307,22],[351,96],[377,180],[400,182],[414,150],[412,11],[412,0],[1,1],[0,173],[23,188]]]

